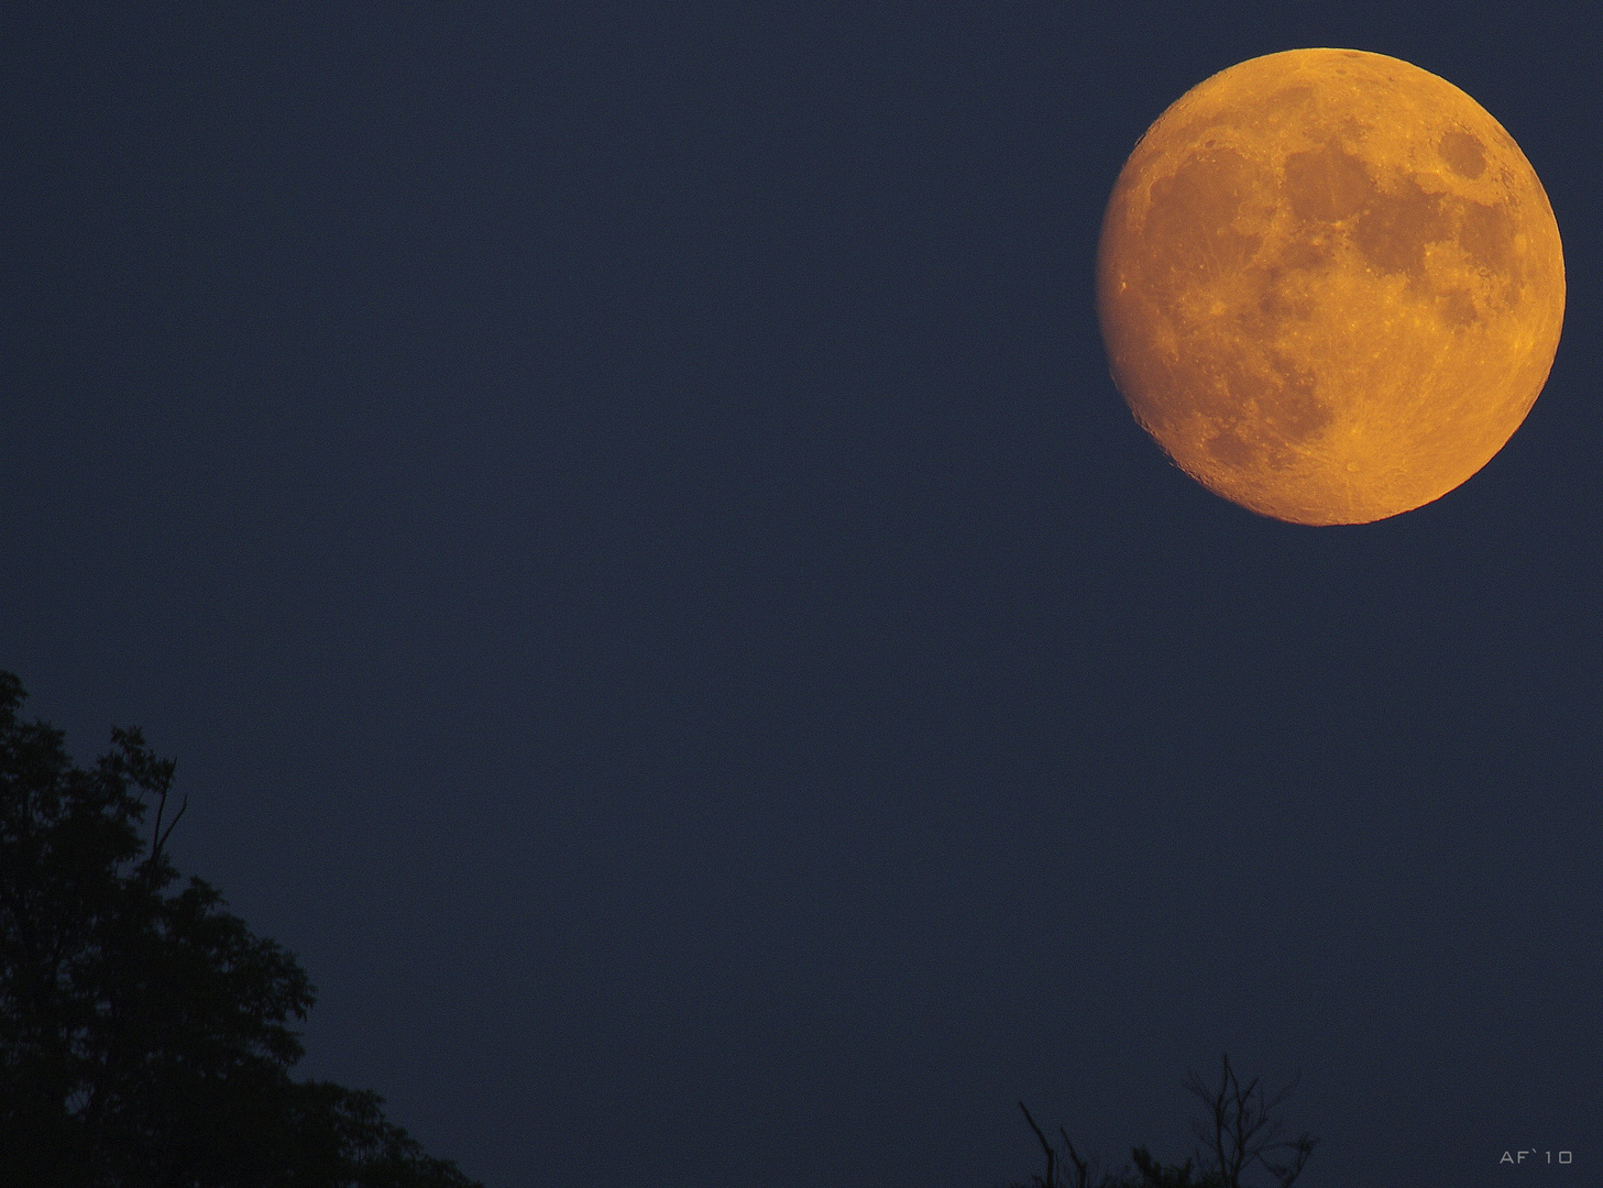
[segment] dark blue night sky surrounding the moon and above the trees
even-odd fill
[[[1228,1052],[1308,1188],[1595,1188],[1593,26],[1318,8],[8,5],[0,669],[176,757],[297,1074],[489,1188],[994,1188]],[[1361,527],[1170,467],[1093,311],[1137,138],[1313,45],[1568,268]]]

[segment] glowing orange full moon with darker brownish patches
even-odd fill
[[[1297,524],[1439,499],[1520,428],[1565,260],[1531,162],[1475,99],[1356,50],[1186,91],[1108,200],[1114,383],[1197,483]]]

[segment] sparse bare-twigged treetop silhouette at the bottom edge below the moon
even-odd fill
[[[1242,1177],[1255,1164],[1263,1167],[1279,1188],[1290,1188],[1319,1142],[1310,1133],[1292,1140],[1281,1138],[1284,1122],[1274,1111],[1295,1084],[1294,1079],[1273,1098],[1266,1098],[1258,1077],[1242,1085],[1230,1066],[1230,1055],[1225,1055],[1218,1089],[1204,1084],[1194,1071],[1185,1081],[1185,1087],[1207,1106],[1207,1116],[1193,1122],[1202,1148],[1185,1164],[1164,1166],[1146,1146],[1137,1146],[1130,1153],[1133,1169],[1125,1166],[1119,1172],[1101,1175],[1092,1161],[1080,1158],[1063,1127],[1058,1127],[1063,1137],[1061,1150],[1047,1142],[1047,1135],[1020,1101],[1024,1121],[1040,1140],[1047,1169],[1045,1175],[1032,1175],[1029,1185],[1015,1183],[1011,1188],[1247,1188]],[[1286,1158],[1279,1159],[1279,1153],[1286,1153]]]

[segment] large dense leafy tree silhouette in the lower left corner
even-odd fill
[[[474,1188],[377,1093],[290,1079],[316,991],[210,883],[173,887],[173,760],[114,729],[79,768],[61,731],[18,718],[24,697],[0,672],[6,1183]]]

